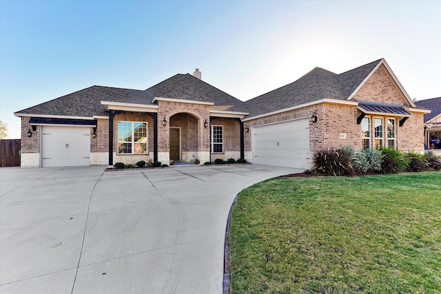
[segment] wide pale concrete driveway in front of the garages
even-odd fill
[[[245,187],[300,169],[0,169],[0,293],[222,293]]]

